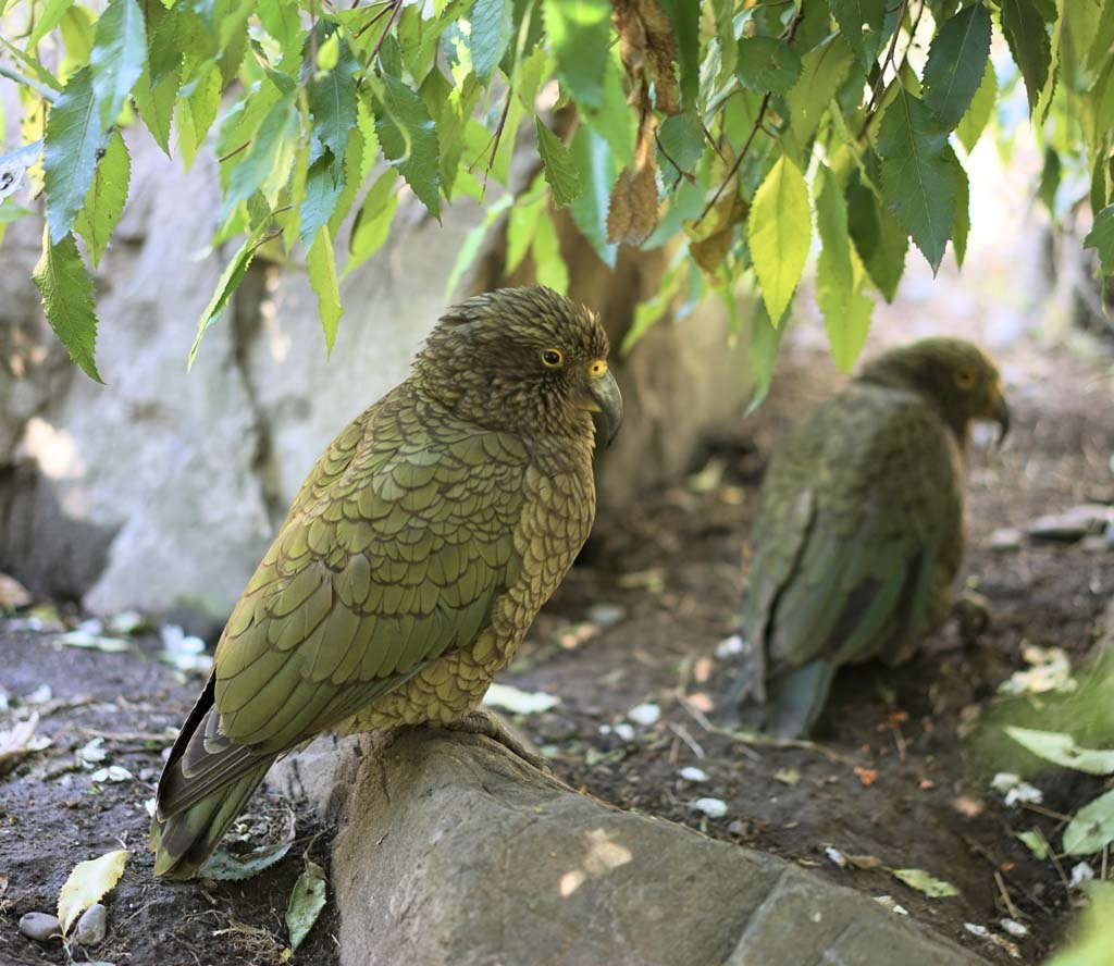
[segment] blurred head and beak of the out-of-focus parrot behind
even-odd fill
[[[926,397],[960,440],[975,420],[997,422],[998,441],[1009,431],[1009,407],[998,368],[962,339],[922,339],[891,350],[863,367],[859,379]]]

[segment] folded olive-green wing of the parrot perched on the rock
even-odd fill
[[[506,435],[439,425],[434,436],[416,423],[388,404],[314,467],[228,619],[214,680],[172,752],[160,814],[339,723],[487,626],[519,567],[527,453]]]

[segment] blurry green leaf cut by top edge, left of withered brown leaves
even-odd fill
[[[612,32],[608,0],[543,0],[557,76],[577,105],[598,108],[604,98]]]

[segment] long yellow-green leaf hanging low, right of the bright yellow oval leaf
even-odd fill
[[[856,291],[847,201],[827,165],[817,169],[813,197],[817,233],[823,245],[817,260],[817,303],[824,316],[832,359],[841,372],[850,372],[866,344],[874,303]]]

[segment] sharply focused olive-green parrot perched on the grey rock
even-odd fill
[[[236,604],[158,783],[155,874],[196,875],[272,762],[325,731],[478,710],[588,536],[607,336],[544,287],[449,310],[410,377],[310,471]]]

